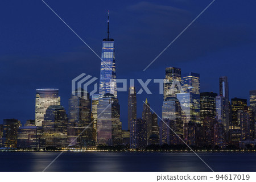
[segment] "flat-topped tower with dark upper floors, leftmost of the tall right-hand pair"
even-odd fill
[[[164,80],[164,100],[167,97],[176,97],[181,92],[181,69],[175,67],[166,68]]]

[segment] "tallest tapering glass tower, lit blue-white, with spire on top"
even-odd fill
[[[99,98],[110,93],[117,98],[117,81],[115,75],[115,49],[114,39],[109,38],[109,14],[108,14],[108,38],[102,41],[101,73]]]

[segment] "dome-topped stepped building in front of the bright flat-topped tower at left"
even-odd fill
[[[42,122],[46,147],[65,148],[68,146],[67,125],[68,117],[64,107],[60,105],[49,106]]]

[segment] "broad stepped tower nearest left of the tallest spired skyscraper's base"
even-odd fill
[[[81,134],[71,146],[76,148],[92,146],[93,125],[90,125],[92,121],[89,93],[83,89],[76,90],[69,98],[68,106],[68,143],[73,142]]]

